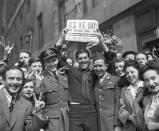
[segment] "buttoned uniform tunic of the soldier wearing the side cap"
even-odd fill
[[[95,100],[101,131],[114,131],[118,79],[117,76],[107,74],[101,83],[98,81],[95,85]]]

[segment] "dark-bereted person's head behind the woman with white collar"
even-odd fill
[[[126,51],[123,53],[122,57],[125,59],[125,61],[129,61],[129,60],[135,60],[135,55],[136,55],[135,51]]]

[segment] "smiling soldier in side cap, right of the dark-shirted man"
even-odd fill
[[[103,54],[97,52],[93,57],[93,69],[98,76],[95,84],[95,100],[98,110],[99,130],[101,131],[119,131],[115,120],[117,114],[115,105],[119,91],[117,82],[119,77],[107,72],[108,64]],[[115,127],[115,128],[114,128]]]

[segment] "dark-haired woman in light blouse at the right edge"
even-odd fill
[[[149,95],[144,97],[144,120],[146,131],[159,130],[159,64],[149,62],[142,69],[142,77]]]

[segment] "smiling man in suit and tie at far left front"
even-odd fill
[[[24,73],[17,67],[8,68],[4,74],[4,88],[0,90],[0,131],[23,131],[25,119],[32,112],[32,104],[19,95],[23,80]],[[36,121],[34,124],[33,130],[37,131],[38,124]]]

